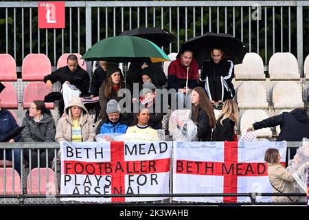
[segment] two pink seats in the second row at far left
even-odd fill
[[[3,82],[5,89],[0,94],[2,107],[5,109],[18,109],[18,100],[15,87],[10,82]],[[29,109],[33,100],[44,100],[44,96],[52,89],[47,89],[44,82],[31,82],[23,90],[23,109]],[[48,109],[54,109],[54,103],[45,103]]]

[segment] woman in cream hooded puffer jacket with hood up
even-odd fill
[[[93,142],[95,125],[79,97],[73,97],[65,108],[65,117],[59,119],[57,142]]]

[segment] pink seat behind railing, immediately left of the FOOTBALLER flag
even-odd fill
[[[30,181],[30,175],[31,175],[31,181]],[[38,186],[38,179],[40,186]],[[51,195],[55,195],[58,193],[54,170],[52,170],[51,168],[32,169],[27,177],[27,194],[47,195],[47,193],[50,193]]]

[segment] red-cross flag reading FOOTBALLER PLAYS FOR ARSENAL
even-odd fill
[[[61,142],[62,195],[170,193],[172,142]],[[62,198],[62,201],[155,201],[161,197]]]

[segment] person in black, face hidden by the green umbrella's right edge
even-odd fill
[[[126,82],[133,87],[133,83],[142,84],[141,74],[143,72],[152,72],[156,82],[151,82],[158,87],[163,87],[166,83],[166,76],[160,63],[131,63],[126,76]],[[145,82],[144,82],[145,83]]]

